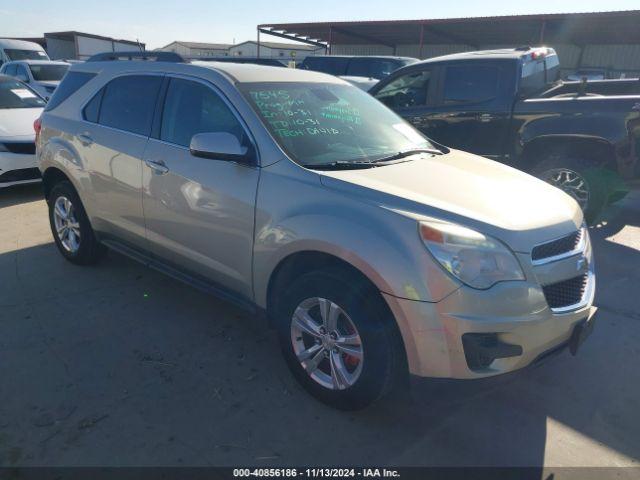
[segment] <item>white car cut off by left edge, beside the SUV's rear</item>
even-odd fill
[[[44,105],[27,85],[0,75],[0,188],[40,180],[33,122]]]

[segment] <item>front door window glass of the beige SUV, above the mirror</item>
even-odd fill
[[[244,129],[225,102],[199,82],[172,78],[162,112],[160,140],[188,147],[197,133],[231,133],[244,143]]]

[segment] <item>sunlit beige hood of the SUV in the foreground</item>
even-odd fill
[[[498,162],[451,150],[363,170],[322,171],[328,188],[349,191],[404,215],[438,218],[495,236],[518,252],[582,223],[561,190]]]

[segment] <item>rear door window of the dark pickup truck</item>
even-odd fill
[[[498,67],[464,65],[447,67],[444,81],[444,103],[479,103],[498,95]]]

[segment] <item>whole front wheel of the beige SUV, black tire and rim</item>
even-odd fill
[[[276,327],[285,360],[298,382],[321,402],[341,410],[358,410],[408,378],[395,320],[380,294],[363,280],[354,280],[351,272],[328,269],[307,273],[279,300]],[[321,328],[331,321],[322,321],[321,305],[328,307],[325,318],[332,317],[330,312],[337,313],[335,329],[324,333]],[[307,328],[301,329],[294,315],[305,319],[302,323]],[[313,328],[308,328],[309,321]],[[312,335],[309,331],[314,328]],[[333,337],[336,343],[332,343],[333,332],[338,332],[337,338]],[[347,338],[349,345],[342,342]],[[299,356],[309,357],[305,361],[309,372]]]

